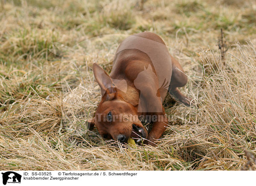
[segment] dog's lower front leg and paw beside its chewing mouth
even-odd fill
[[[145,143],[148,145],[154,146],[155,140],[159,139],[162,136],[167,126],[168,126],[168,119],[166,114],[163,113],[162,115],[158,115],[157,121],[153,122],[153,128],[148,134],[148,140]]]

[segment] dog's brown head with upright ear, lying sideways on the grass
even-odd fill
[[[148,132],[138,118],[137,109],[122,98],[110,76],[98,64],[93,64],[102,100],[95,113],[95,125],[103,138],[127,142],[129,137],[140,141]]]

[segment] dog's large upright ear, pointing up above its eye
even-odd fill
[[[113,84],[111,77],[109,77],[105,70],[96,63],[93,64],[93,73],[101,89],[102,96],[107,93],[107,100],[114,99],[114,97],[116,97],[117,89],[115,84]]]

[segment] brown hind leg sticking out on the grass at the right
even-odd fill
[[[191,99],[184,96],[177,87],[183,87],[186,85],[188,78],[184,73],[184,70],[180,66],[179,62],[172,57],[172,78],[169,85],[168,92],[177,101],[186,106],[190,106]]]

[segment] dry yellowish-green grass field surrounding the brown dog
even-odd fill
[[[93,62],[110,72],[122,39],[144,31],[169,46],[196,105],[167,96],[157,146],[134,148],[84,124],[101,99]],[[244,150],[256,154],[255,0],[1,0],[0,170],[254,169]]]

